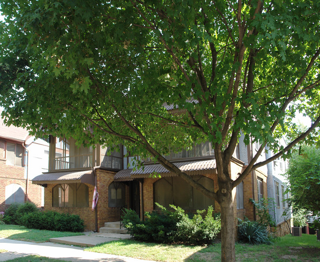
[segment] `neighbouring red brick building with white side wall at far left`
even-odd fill
[[[48,170],[49,144],[34,140],[24,128],[5,126],[0,118],[0,211],[10,204],[43,206],[44,190],[31,179]]]

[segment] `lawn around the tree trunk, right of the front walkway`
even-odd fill
[[[236,243],[236,261],[308,261],[319,262],[320,241],[315,235],[302,237],[287,235],[277,238],[273,245],[249,245]],[[154,261],[220,261],[221,244],[211,246],[185,246],[143,243],[126,239],[86,248],[86,251],[122,255]]]

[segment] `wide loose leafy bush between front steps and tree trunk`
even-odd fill
[[[189,218],[180,207],[170,205],[173,211],[167,210],[158,203],[160,212],[145,213],[145,220],[140,221],[132,210],[126,210],[123,217],[128,233],[139,241],[160,243],[206,244],[212,243],[220,232],[220,218],[214,219],[213,208],[209,207],[207,215],[204,210],[197,211]]]

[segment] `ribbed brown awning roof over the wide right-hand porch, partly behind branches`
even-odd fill
[[[201,175],[202,173],[208,173],[208,171],[214,171],[216,168],[216,160],[210,159],[191,162],[177,162],[174,163],[174,165],[189,175]],[[177,176],[175,173],[170,172],[160,164],[150,164],[134,171],[133,169],[121,170],[114,176],[114,180],[131,181],[137,178],[149,178],[154,172],[158,173],[161,177]]]

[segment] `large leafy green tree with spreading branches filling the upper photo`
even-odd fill
[[[83,144],[122,142],[131,153],[150,155],[219,202],[222,260],[234,261],[232,188],[319,132],[319,1],[0,5],[0,99],[7,124]],[[313,121],[304,133],[295,132],[295,111]],[[232,181],[228,165],[240,132],[246,143],[261,146]],[[277,142],[283,132],[292,138],[286,148]],[[162,156],[206,140],[214,145],[216,192]],[[256,162],[266,145],[274,155]]]

